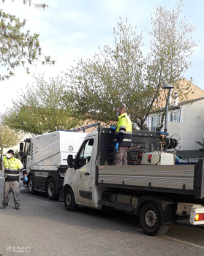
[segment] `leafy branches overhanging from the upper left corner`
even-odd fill
[[[4,1],[3,1],[4,2]],[[23,0],[26,4],[31,1]],[[34,4],[35,7],[45,9],[46,4]],[[30,34],[24,31],[26,20],[20,21],[15,15],[10,15],[0,10],[0,64],[6,67],[0,80],[5,80],[14,75],[16,67],[23,66],[29,74],[29,66],[36,61],[42,64],[55,64],[50,56],[44,56],[39,45],[39,34]],[[39,57],[43,56],[43,60]]]

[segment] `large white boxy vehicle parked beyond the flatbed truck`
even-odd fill
[[[58,131],[27,138],[20,143],[20,155],[29,178],[30,194],[46,192],[50,200],[61,197],[67,156],[75,157],[86,133]]]

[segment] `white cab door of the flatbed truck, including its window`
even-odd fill
[[[77,156],[77,180],[75,195],[77,201],[86,205],[90,204],[91,192],[89,183],[91,181],[92,150],[94,148],[94,138],[84,141]]]

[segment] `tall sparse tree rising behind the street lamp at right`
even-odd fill
[[[187,94],[193,93],[190,85],[183,86],[184,72],[189,69],[189,62],[197,42],[189,35],[195,31],[194,26],[189,24],[186,18],[182,18],[184,4],[179,1],[175,10],[170,12],[165,7],[159,6],[151,17],[152,30],[148,34],[151,39],[151,83],[156,85],[156,94],[151,102],[151,110],[154,109],[161,114],[161,123],[158,130],[161,130],[164,123],[165,97],[161,90],[165,81],[174,86],[173,94],[180,100],[187,98]]]

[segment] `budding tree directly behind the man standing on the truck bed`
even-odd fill
[[[151,88],[148,87],[146,59],[142,53],[142,33],[137,35],[127,20],[118,22],[115,48],[105,47],[95,54],[93,60],[78,61],[67,75],[75,92],[78,111],[84,119],[111,124],[117,121],[116,111],[126,104],[132,121],[143,116],[140,105],[148,102]],[[147,93],[148,91],[148,93]],[[137,114],[136,114],[137,113]]]

